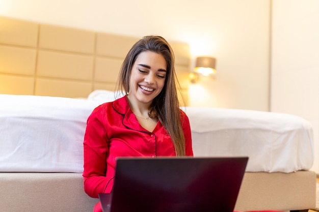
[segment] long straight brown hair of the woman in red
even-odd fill
[[[129,79],[132,66],[143,51],[152,51],[162,54],[166,60],[167,73],[162,92],[152,101],[149,108],[149,116],[157,118],[169,132],[175,147],[177,156],[185,155],[185,137],[181,126],[181,115],[177,98],[179,83],[174,67],[174,53],[169,43],[161,36],[145,36],[139,40],[127,53],[121,67],[118,79],[118,90],[129,92]]]

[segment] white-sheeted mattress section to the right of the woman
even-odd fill
[[[311,168],[313,131],[298,116],[220,108],[184,109],[194,156],[248,156],[246,171],[294,172]]]

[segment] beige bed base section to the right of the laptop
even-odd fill
[[[313,171],[246,172],[235,210],[296,210],[315,208],[316,173]]]

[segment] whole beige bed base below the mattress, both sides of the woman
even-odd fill
[[[315,207],[316,174],[246,172],[235,210]],[[83,190],[81,173],[0,173],[0,211],[89,212],[98,201]]]

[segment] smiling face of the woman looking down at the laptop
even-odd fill
[[[129,99],[137,103],[151,104],[164,87],[166,69],[166,60],[162,54],[141,52],[131,69]]]

